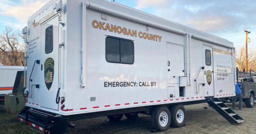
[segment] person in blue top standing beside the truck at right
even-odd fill
[[[239,101],[239,110],[242,110],[243,108],[243,95],[242,95],[242,90],[240,89],[242,87],[242,84],[237,83],[235,85],[235,96],[232,97],[232,109],[235,109],[236,105],[236,100]]]

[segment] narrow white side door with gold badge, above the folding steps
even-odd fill
[[[203,46],[204,96],[214,96],[212,47]]]

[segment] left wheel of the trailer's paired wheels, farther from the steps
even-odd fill
[[[159,122],[159,118],[161,122]],[[153,128],[158,131],[167,130],[171,125],[171,113],[169,109],[167,107],[161,106],[154,108],[153,112],[151,113],[151,123]]]

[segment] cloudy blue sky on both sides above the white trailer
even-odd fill
[[[20,30],[49,0],[0,0],[0,33],[5,26]],[[115,0],[115,2],[228,39],[239,49],[244,29],[256,50],[256,0]]]

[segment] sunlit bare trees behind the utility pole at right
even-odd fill
[[[243,71],[245,68],[245,47],[241,47],[239,50],[236,50],[236,66],[239,71]],[[253,49],[248,49],[248,71],[256,71],[256,51]]]

